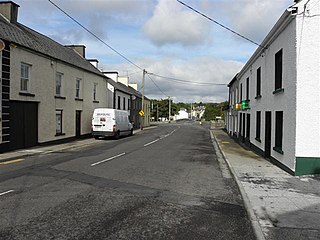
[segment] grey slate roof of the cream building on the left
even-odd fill
[[[89,61],[82,58],[73,49],[65,47],[51,38],[38,33],[21,23],[10,23],[0,15],[0,38],[17,46],[31,49],[56,60],[69,63],[83,70],[105,77]]]

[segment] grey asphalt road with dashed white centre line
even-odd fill
[[[0,165],[0,239],[254,239],[208,126],[92,141]]]

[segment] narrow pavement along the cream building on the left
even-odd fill
[[[147,129],[152,129],[153,127],[147,127]],[[133,134],[137,134],[138,132],[141,132],[140,129],[136,129],[133,131]],[[21,159],[24,157],[36,155],[36,154],[48,154],[51,152],[61,152],[65,150],[76,150],[79,148],[87,147],[90,145],[97,145],[102,144],[103,141],[98,141],[94,138],[87,138],[87,139],[79,139],[70,141],[67,143],[61,143],[61,144],[52,144],[47,146],[36,146],[28,149],[18,149],[15,151],[5,152],[0,154],[0,165],[11,163],[11,161],[16,161],[17,159]]]

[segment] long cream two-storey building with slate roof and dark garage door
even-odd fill
[[[84,46],[62,46],[17,22],[0,2],[0,152],[91,134],[94,108],[107,106],[107,77]]]

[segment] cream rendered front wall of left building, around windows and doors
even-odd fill
[[[34,97],[21,96],[20,65],[31,65],[30,93]],[[62,93],[65,99],[55,98],[56,72],[63,73]],[[76,78],[82,79],[80,98],[75,100]],[[97,83],[96,102],[93,101],[93,84]],[[37,101],[38,141],[48,142],[75,136],[75,114],[81,111],[81,134],[91,132],[91,119],[94,108],[107,107],[106,80],[98,75],[74,68],[70,65],[52,61],[20,48],[11,48],[11,100]],[[56,109],[63,110],[62,131],[56,135]]]

